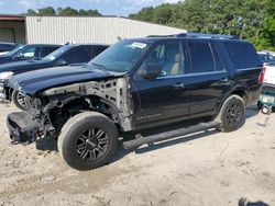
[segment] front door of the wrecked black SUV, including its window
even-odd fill
[[[188,116],[189,94],[183,77],[185,60],[179,42],[161,43],[138,70],[131,87],[136,128]],[[162,70],[160,77],[142,76],[152,65]]]

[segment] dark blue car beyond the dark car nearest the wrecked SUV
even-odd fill
[[[12,61],[21,61],[21,60],[30,60],[30,59],[41,59],[48,54],[53,53],[61,45],[51,45],[51,44],[29,44],[21,45],[11,50],[10,53],[0,56],[0,65],[12,62]]]

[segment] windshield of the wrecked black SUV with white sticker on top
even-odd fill
[[[108,71],[130,71],[152,43],[125,39],[118,42],[88,62],[88,67],[101,67]]]

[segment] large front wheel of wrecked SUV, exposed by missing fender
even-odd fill
[[[118,148],[119,134],[112,121],[96,112],[72,117],[57,140],[64,161],[76,170],[91,170],[107,164]]]

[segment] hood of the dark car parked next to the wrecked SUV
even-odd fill
[[[47,61],[42,60],[15,61],[0,65],[0,72],[13,71],[14,73],[21,73],[32,69],[41,69],[46,67],[47,65]]]

